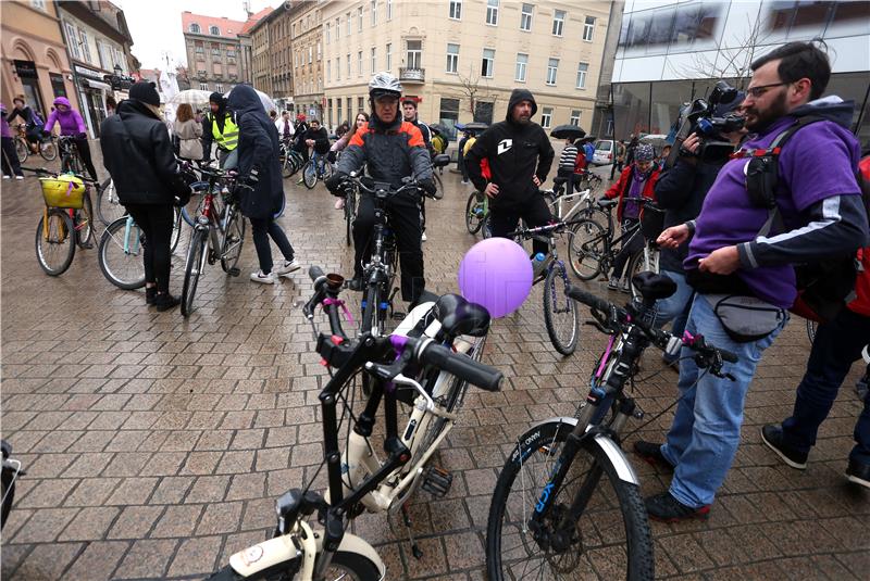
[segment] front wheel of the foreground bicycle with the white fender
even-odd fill
[[[520,437],[505,463],[486,531],[489,580],[654,579],[652,540],[639,489],[620,480],[607,454],[591,440],[571,458],[562,485],[549,491],[552,504],[543,530],[530,530],[571,430],[555,420],[538,425]],[[579,495],[586,502],[580,519],[556,530]]]

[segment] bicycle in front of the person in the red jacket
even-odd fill
[[[639,204],[644,212],[661,212],[655,202],[648,198],[626,198],[626,202]],[[607,215],[607,228],[594,219],[582,219],[573,228],[573,236],[569,240],[568,257],[571,270],[581,280],[592,280],[599,274],[610,271],[621,245],[627,244],[635,236],[642,236],[642,224],[620,232],[616,239],[613,229],[612,209],[619,203],[617,200],[598,200],[596,204]],[[627,261],[626,277],[633,280],[634,274],[641,271],[659,271],[659,251],[655,239],[646,240],[644,248],[635,252]],[[637,295],[637,289],[631,288],[632,294]]]

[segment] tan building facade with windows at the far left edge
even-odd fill
[[[4,2],[0,30],[3,61],[0,88],[9,110],[12,99],[20,94],[44,119],[58,97],[66,97],[78,108],[73,71],[53,2]]]

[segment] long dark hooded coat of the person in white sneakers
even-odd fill
[[[236,85],[226,106],[235,113],[239,128],[238,173],[243,178],[253,169],[258,174],[253,190],[241,190],[241,212],[249,218],[272,218],[284,205],[278,130],[250,85]]]

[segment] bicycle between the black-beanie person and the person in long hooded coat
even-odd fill
[[[209,187],[202,195],[199,214],[192,220],[187,209],[182,209],[182,213],[187,214],[185,219],[188,223],[195,222],[182,286],[182,315],[185,317],[194,312],[194,298],[206,264],[214,264],[220,260],[224,273],[238,276],[239,269],[236,265],[245,243],[245,217],[236,194],[237,188],[241,186],[236,181],[235,172],[202,167],[199,172],[209,177]],[[231,188],[225,201],[221,192],[215,191],[214,186],[219,180]]]

